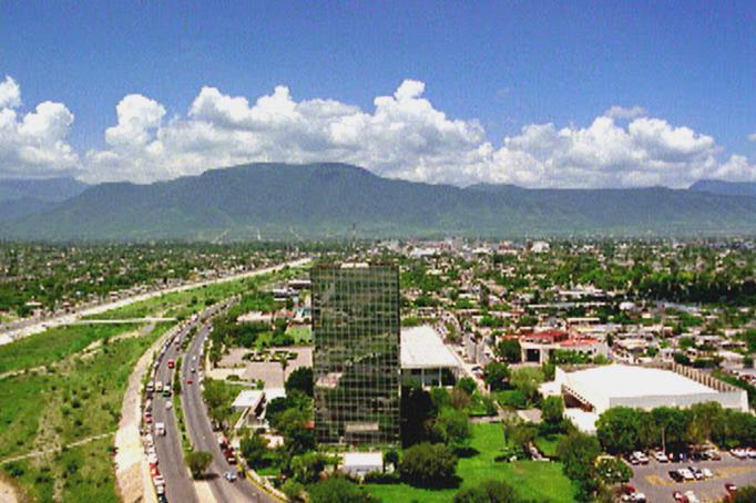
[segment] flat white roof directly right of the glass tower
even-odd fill
[[[401,368],[435,369],[459,367],[459,360],[429,325],[401,330]]]

